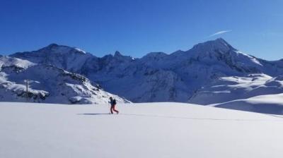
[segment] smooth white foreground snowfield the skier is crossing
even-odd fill
[[[281,116],[194,104],[0,103],[0,157],[281,157]]]

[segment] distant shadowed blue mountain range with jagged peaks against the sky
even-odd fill
[[[202,87],[222,77],[263,73],[275,78],[283,74],[282,60],[265,61],[244,54],[221,38],[196,44],[188,51],[151,52],[141,59],[118,51],[98,58],[57,44],[11,56],[79,73],[132,102],[188,102]]]

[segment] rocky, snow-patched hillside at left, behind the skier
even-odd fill
[[[69,73],[55,66],[7,56],[0,57],[0,66],[1,102],[103,104],[108,102],[109,97],[115,97],[117,102],[128,102],[105,92],[83,75]],[[28,94],[25,80],[29,83]]]

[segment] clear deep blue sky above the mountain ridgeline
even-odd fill
[[[50,43],[96,56],[171,53],[222,37],[262,59],[283,59],[281,0],[0,0],[0,54]]]

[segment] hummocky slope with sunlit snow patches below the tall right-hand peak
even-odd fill
[[[195,92],[189,102],[197,104],[216,104],[235,99],[246,99],[258,95],[272,95],[283,92],[283,77],[250,74],[244,77],[230,76],[216,78]]]

